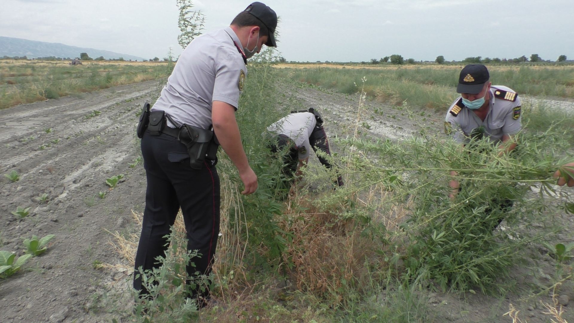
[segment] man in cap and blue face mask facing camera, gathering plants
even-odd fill
[[[452,103],[447,112],[444,129],[453,134],[460,144],[470,143],[471,138],[482,136],[499,147],[499,155],[511,152],[517,143],[512,139],[521,128],[521,103],[518,94],[509,87],[492,85],[490,75],[483,64],[468,64],[459,75],[456,88],[460,97]],[[451,176],[456,176],[451,172]],[[454,197],[459,182],[449,182]]]

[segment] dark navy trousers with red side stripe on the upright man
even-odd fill
[[[188,275],[209,274],[214,261],[219,235],[219,176],[211,161],[195,170],[189,166],[189,155],[184,144],[167,134],[144,134],[142,155],[148,186],[146,189],[144,220],[135,256],[134,288],[141,295],[148,294],[141,278],[135,278],[139,267],[144,270],[159,267],[157,256],[165,256],[170,226],[181,207],[190,251],[199,250],[200,257],[187,264]],[[192,296],[197,291],[191,291]]]

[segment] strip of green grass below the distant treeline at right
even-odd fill
[[[440,110],[459,96],[455,87],[462,67],[282,68],[278,73],[345,94],[357,93],[364,77],[364,91],[372,98]],[[574,98],[574,66],[488,67],[493,84],[508,86],[518,94]]]

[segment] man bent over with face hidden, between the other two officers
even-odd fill
[[[277,144],[273,143],[270,147],[273,153],[292,144],[284,158],[283,174],[288,179],[294,179],[293,184],[300,178],[301,167],[307,164],[311,148],[315,152],[319,149],[319,151],[331,155],[327,133],[323,128],[323,118],[313,108],[299,112],[292,111],[288,116],[267,127],[267,130],[276,135]],[[324,156],[317,157],[323,166],[328,169],[333,168],[333,165]],[[292,178],[293,175],[294,178]],[[338,175],[336,184],[343,186],[343,179],[340,175]],[[290,190],[293,192],[294,188],[291,187]]]

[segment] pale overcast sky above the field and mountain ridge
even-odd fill
[[[0,36],[105,49],[146,59],[179,55],[176,0],[0,0]],[[266,0],[281,17],[281,55],[296,61],[574,59],[573,0]],[[206,30],[249,0],[196,0]],[[88,53],[89,54],[89,53]]]

